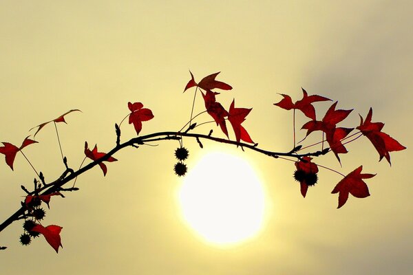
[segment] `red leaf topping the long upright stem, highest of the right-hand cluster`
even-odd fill
[[[329,98],[324,98],[324,96],[308,96],[305,89],[301,88],[303,91],[303,98],[298,100],[297,102],[293,103],[290,96],[286,94],[281,94],[284,98],[278,102],[274,103],[274,105],[281,107],[282,109],[290,110],[290,109],[298,109],[304,113],[308,118],[315,120],[315,109],[312,103],[317,101],[326,101],[330,100]]]

